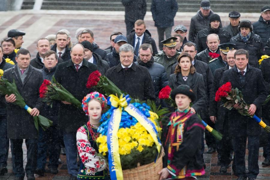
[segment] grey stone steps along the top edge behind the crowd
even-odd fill
[[[136,1],[136,0],[134,0]],[[146,0],[147,10],[150,11],[151,0]],[[179,12],[196,12],[200,0],[177,0]],[[259,13],[264,5],[270,5],[269,0],[210,0],[214,12],[256,12]],[[32,9],[35,0],[24,0],[22,9]],[[123,11],[121,0],[44,0],[41,9],[47,10],[111,10]]]

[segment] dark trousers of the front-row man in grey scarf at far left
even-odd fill
[[[38,157],[38,139],[26,139],[27,148],[27,163],[25,166],[25,171],[23,169],[23,157],[22,157],[22,143],[23,139],[10,139],[10,148],[13,151],[14,158],[14,174],[15,177],[24,177],[25,172],[27,175],[34,175],[37,167],[37,157]]]

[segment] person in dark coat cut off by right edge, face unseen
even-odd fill
[[[270,58],[264,59],[260,65],[262,76],[266,86],[268,94],[270,93]],[[265,124],[270,125],[270,102],[262,106],[262,119]],[[270,165],[270,134],[268,134],[268,145],[263,147],[263,157],[265,160],[262,165]]]

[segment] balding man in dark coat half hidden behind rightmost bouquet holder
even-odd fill
[[[228,64],[225,67],[215,70],[214,79],[212,83],[211,96],[209,101],[209,116],[212,123],[215,124],[215,129],[223,134],[223,138],[217,141],[217,153],[220,167],[220,173],[226,173],[229,164],[231,163],[232,155],[232,143],[231,138],[229,138],[229,126],[228,126],[228,110],[222,107],[221,102],[215,101],[215,95],[217,89],[222,85],[221,79],[223,77],[224,71],[231,69],[235,66],[234,53],[236,49],[229,50],[227,53]],[[234,164],[233,164],[234,165]],[[235,170],[235,166],[232,166]]]

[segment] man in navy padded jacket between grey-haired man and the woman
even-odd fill
[[[151,44],[142,44],[139,48],[139,56],[137,57],[136,64],[144,66],[148,69],[150,76],[152,78],[152,83],[155,88],[156,104],[160,104],[160,99],[158,98],[159,91],[168,85],[168,77],[165,68],[155,62],[152,56],[153,49]]]

